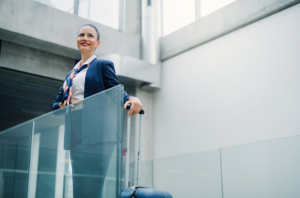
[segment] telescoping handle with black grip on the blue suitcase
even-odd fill
[[[127,115],[129,114],[131,104],[127,104],[126,109],[128,110]],[[145,113],[143,109],[141,109],[139,112],[139,135],[138,135],[138,152],[137,152],[137,178],[136,178],[136,185],[139,185],[139,178],[140,178],[140,156],[141,156],[141,150],[140,150],[140,135],[141,135],[141,116]],[[127,116],[127,135],[126,135],[126,148],[125,148],[125,182],[124,182],[124,189],[128,189],[129,187],[129,140],[130,140],[130,117]]]

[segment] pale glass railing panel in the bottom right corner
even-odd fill
[[[221,149],[223,197],[300,197],[300,136]]]

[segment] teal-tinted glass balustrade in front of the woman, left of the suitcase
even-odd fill
[[[118,85],[1,131],[0,197],[118,197],[122,120]]]

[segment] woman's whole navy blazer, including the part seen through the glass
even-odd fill
[[[71,71],[66,77],[70,73]],[[118,84],[113,63],[109,60],[94,58],[87,67],[84,98]],[[52,103],[52,110],[59,108],[62,95],[63,88],[61,87],[60,92]],[[124,91],[123,102],[125,103],[130,96],[132,95]],[[106,92],[95,98],[90,98],[89,102],[83,100],[83,108],[76,110],[76,112],[72,111],[73,113],[71,112],[71,108],[65,108],[64,149],[72,149],[74,136],[81,139],[81,143],[83,144],[116,142],[117,131],[109,110],[109,98],[114,100],[117,96]]]

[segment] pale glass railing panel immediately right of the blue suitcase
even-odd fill
[[[154,159],[154,188],[179,197],[222,197],[220,152]]]

